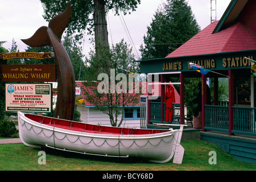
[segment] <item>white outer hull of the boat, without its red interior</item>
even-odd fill
[[[168,162],[174,156],[182,133],[180,130],[143,135],[86,133],[44,125],[20,112],[18,120],[20,139],[27,146],[92,155],[135,156],[157,163]]]

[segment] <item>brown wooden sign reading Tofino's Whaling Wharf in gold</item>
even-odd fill
[[[55,82],[55,64],[0,65],[2,82]]]

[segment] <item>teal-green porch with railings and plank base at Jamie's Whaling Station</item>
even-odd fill
[[[228,102],[226,103],[228,104]],[[159,106],[160,102],[151,102],[150,122],[161,123]],[[179,109],[179,104],[175,104],[175,109]],[[193,128],[193,121],[185,127],[181,140],[204,140],[217,144],[222,151],[233,155],[238,160],[256,163],[256,118],[255,107],[233,106],[233,129],[229,134],[229,106],[204,105],[205,126],[202,129]],[[175,114],[176,113],[176,114]],[[180,124],[179,111],[174,111],[172,124]],[[155,120],[158,119],[158,120]],[[167,123],[167,122],[162,122]],[[206,132],[207,131],[207,132]],[[236,134],[236,135],[235,135]]]

